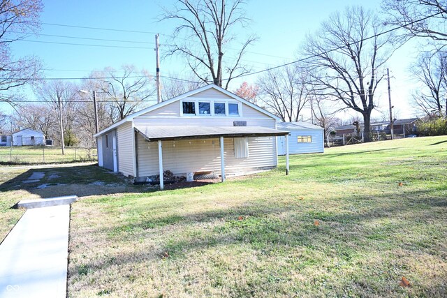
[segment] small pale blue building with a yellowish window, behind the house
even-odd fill
[[[277,128],[290,131],[288,151],[290,154],[324,152],[324,130],[305,122],[279,122]],[[286,154],[286,137],[278,137],[278,155]]]

